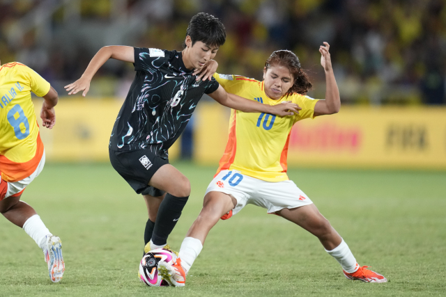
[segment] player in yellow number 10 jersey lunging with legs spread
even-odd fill
[[[383,275],[357,264],[345,241],[286,175],[291,127],[305,118],[337,113],[341,106],[329,49],[327,42],[319,48],[325,70],[325,100],[305,95],[312,83],[291,51],[272,53],[263,70],[263,81],[215,74],[228,93],[270,105],[291,101],[302,110],[293,117],[231,111],[229,140],[217,174],[206,190],[203,209],[181,244],[176,264],[160,262],[164,264],[158,266],[160,275],[171,284],[184,285],[187,271],[201,252],[210,229],[220,217],[230,218],[246,204],[264,207],[269,214],[282,216],[317,236],[349,280],[387,282]]]

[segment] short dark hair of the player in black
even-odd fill
[[[226,29],[224,29],[222,22],[208,13],[197,13],[190,19],[186,31],[187,35],[192,39],[192,45],[201,41],[206,45],[220,47],[226,41]],[[186,43],[184,42],[183,48],[185,47]]]

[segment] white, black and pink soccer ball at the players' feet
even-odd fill
[[[169,286],[169,283],[158,275],[158,263],[174,264],[176,255],[170,250],[157,248],[146,253],[139,263],[139,279],[150,287]]]

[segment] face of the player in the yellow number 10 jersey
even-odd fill
[[[293,86],[294,78],[288,67],[272,65],[268,70],[263,68],[263,81],[266,95],[277,100]]]

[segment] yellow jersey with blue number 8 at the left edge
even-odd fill
[[[0,67],[0,172],[17,182],[36,170],[43,155],[31,92],[47,95],[49,83],[21,63]]]

